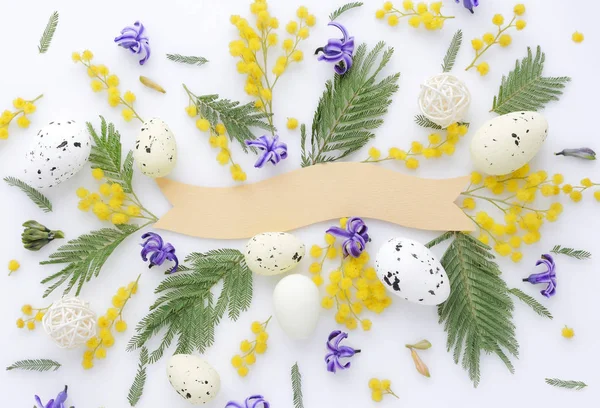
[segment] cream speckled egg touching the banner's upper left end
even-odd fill
[[[148,177],[165,177],[171,173],[177,163],[177,143],[162,119],[144,122],[135,141],[133,158]]]

